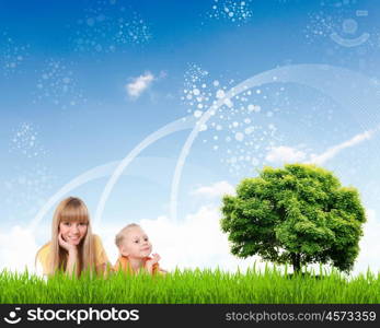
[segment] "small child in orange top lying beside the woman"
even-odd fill
[[[150,274],[166,273],[159,267],[160,256],[153,254],[152,244],[149,242],[145,231],[136,223],[128,224],[116,235],[116,246],[119,250],[119,258],[115,263],[115,271],[123,270],[136,274],[146,270]]]

